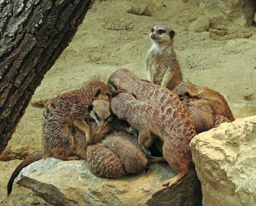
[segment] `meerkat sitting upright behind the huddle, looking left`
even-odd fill
[[[147,80],[173,90],[182,81],[182,72],[173,50],[175,32],[167,25],[154,25],[149,37],[152,45],[147,50],[145,70]]]

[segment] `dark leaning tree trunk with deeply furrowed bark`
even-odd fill
[[[93,0],[0,1],[0,153]]]

